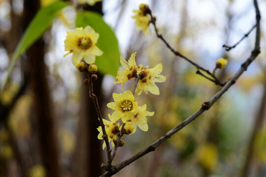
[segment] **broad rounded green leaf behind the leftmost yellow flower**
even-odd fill
[[[97,46],[103,55],[96,57],[95,64],[103,74],[117,75],[120,66],[118,41],[113,30],[103,21],[100,14],[95,12],[81,12],[76,18],[76,27],[91,26],[100,34]]]

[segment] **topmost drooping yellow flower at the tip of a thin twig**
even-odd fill
[[[140,4],[139,10],[133,10],[135,15],[132,17],[133,19],[136,19],[135,25],[138,30],[142,30],[144,36],[146,36],[146,32],[148,31],[148,34],[151,35],[149,24],[150,24],[150,16],[148,14],[149,12],[149,6],[147,4]]]

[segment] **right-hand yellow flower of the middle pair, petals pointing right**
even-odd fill
[[[138,94],[141,94],[141,91],[143,90],[144,93],[148,93],[150,91],[152,94],[159,95],[160,90],[155,85],[156,82],[165,82],[166,77],[163,75],[160,75],[160,73],[163,70],[162,63],[157,64],[154,68],[148,69],[148,67],[143,67],[140,70],[139,81],[136,87],[136,91],[139,91]]]

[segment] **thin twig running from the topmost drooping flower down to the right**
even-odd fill
[[[150,23],[153,24],[153,26],[154,26],[154,29],[155,29],[155,32],[156,32],[156,36],[157,36],[158,38],[160,38],[160,39],[166,44],[166,47],[167,47],[168,49],[170,49],[170,51],[171,51],[175,56],[178,56],[178,57],[181,57],[181,58],[187,60],[187,61],[190,62],[192,65],[196,66],[198,70],[200,69],[200,70],[202,70],[202,71],[205,71],[208,75],[210,75],[211,77],[214,78],[216,85],[223,86],[223,84],[219,81],[219,79],[218,79],[213,73],[211,73],[209,70],[203,68],[202,66],[199,66],[199,64],[197,64],[196,62],[192,61],[191,59],[188,59],[187,57],[183,56],[183,55],[182,55],[181,53],[179,53],[178,51],[175,51],[175,50],[169,45],[169,43],[166,42],[166,40],[165,40],[165,38],[163,37],[163,35],[162,35],[162,34],[159,34],[158,29],[157,29],[157,27],[156,27],[156,18],[152,16],[152,12],[151,12],[151,11],[149,11],[149,14],[150,14],[150,16],[151,16],[151,21],[150,21]]]

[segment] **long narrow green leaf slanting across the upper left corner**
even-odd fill
[[[39,39],[42,34],[50,27],[53,19],[57,16],[58,12],[64,7],[69,5],[65,1],[56,1],[39,9],[29,27],[24,32],[19,44],[16,47],[14,54],[10,60],[7,71],[3,75],[0,91],[2,91],[7,83],[7,80],[14,68],[18,58],[23,54],[33,43]]]

